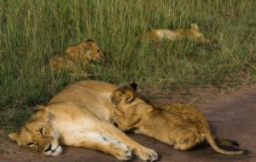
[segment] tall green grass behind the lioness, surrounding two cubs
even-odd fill
[[[104,62],[87,70],[98,75],[96,80],[166,89],[251,83],[256,75],[255,8],[253,0],[0,0],[0,126],[17,128],[29,115],[27,108],[88,79],[54,75],[48,61],[89,38],[106,53]],[[215,42],[135,40],[151,28],[191,23]]]

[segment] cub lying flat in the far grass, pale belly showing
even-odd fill
[[[200,31],[197,24],[191,24],[189,29],[179,29],[179,30],[165,30],[165,29],[152,29],[150,31],[143,32],[139,39],[143,41],[154,41],[159,42],[163,39],[176,41],[182,36],[189,36],[197,42],[207,44],[210,41],[205,38],[203,33]]]

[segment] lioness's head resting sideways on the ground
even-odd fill
[[[57,156],[62,151],[58,135],[50,126],[48,112],[44,107],[32,115],[20,131],[9,133],[9,138],[17,142],[20,147],[46,155]]]

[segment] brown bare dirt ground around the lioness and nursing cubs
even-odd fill
[[[215,153],[209,146],[199,146],[191,151],[182,152],[143,135],[129,134],[131,138],[148,148],[153,148],[164,161],[256,161],[256,86],[241,88],[233,92],[219,92],[212,89],[190,89],[188,91],[152,93],[156,103],[190,103],[207,116],[213,134],[236,140],[247,155],[223,155]],[[164,97],[163,97],[164,96]],[[14,142],[0,137],[0,161],[119,161],[113,156],[86,148],[64,148],[58,157],[33,154],[19,148]],[[134,158],[131,161],[141,161]]]

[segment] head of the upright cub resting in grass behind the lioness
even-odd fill
[[[96,45],[96,42],[87,40],[86,42],[80,43],[79,46],[83,47],[83,51],[89,60],[99,61],[103,59],[102,51],[100,47]]]

